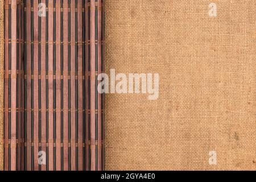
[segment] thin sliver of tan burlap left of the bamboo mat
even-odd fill
[[[4,2],[0,0],[0,171],[3,170]]]

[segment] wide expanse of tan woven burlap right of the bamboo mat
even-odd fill
[[[256,1],[211,2],[106,0],[108,75],[160,80],[106,94],[107,170],[256,169]]]

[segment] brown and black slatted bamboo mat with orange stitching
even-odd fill
[[[5,170],[104,169],[103,7],[5,1]]]

